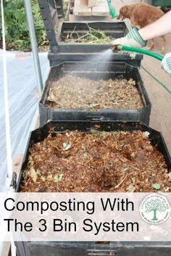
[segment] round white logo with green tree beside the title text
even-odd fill
[[[170,217],[170,203],[162,194],[149,194],[139,205],[141,218],[150,224],[161,224]]]

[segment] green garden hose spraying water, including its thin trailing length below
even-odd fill
[[[160,54],[157,54],[153,51],[149,51],[146,49],[139,49],[136,47],[130,47],[130,46],[121,46],[121,45],[116,45],[116,46],[112,46],[112,51],[114,51],[114,49],[116,50],[123,50],[123,51],[134,51],[134,52],[139,52],[141,54],[146,54],[149,55],[151,57],[154,57],[155,59],[159,59],[160,61],[162,61],[163,56]],[[154,78],[154,80],[156,80],[164,89],[166,89],[170,94],[171,94],[171,88],[166,86],[164,83],[162,83],[161,80],[159,80],[156,75],[152,75],[151,72],[149,70],[146,69],[146,67],[144,67],[143,65],[141,65],[141,67],[143,68],[143,70],[146,71],[146,73],[148,73],[149,75],[151,75],[151,78]]]

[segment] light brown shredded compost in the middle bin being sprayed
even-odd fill
[[[75,75],[64,75],[59,80],[51,81],[47,107],[55,109],[90,109],[102,108],[140,110],[143,102],[135,81],[130,80],[91,80]]]

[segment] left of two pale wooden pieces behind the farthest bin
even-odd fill
[[[75,0],[74,15],[78,16],[91,16],[91,7],[88,7],[87,0]]]

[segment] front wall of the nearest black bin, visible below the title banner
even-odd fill
[[[23,242],[17,256],[170,256],[171,242]]]

